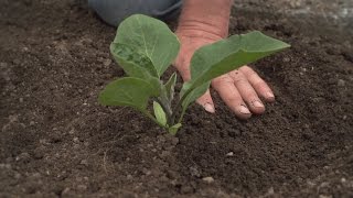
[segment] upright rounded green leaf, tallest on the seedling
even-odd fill
[[[165,23],[142,14],[133,14],[120,23],[113,46],[121,44],[139,56],[148,57],[153,69],[150,65],[145,66],[158,78],[174,61],[180,47],[176,35]]]

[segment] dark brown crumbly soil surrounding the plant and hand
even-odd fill
[[[0,1],[0,197],[352,197],[352,35],[236,8],[231,33],[249,30],[292,45],[253,65],[276,102],[238,121],[213,92],[171,136],[97,103],[124,76],[114,28],[75,1]]]

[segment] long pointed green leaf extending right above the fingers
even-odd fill
[[[197,50],[191,59],[193,89],[223,74],[289,47],[285,42],[255,31],[233,35]]]

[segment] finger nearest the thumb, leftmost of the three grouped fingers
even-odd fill
[[[250,111],[244,103],[240,94],[229,75],[223,75],[212,80],[213,88],[218,92],[223,101],[235,112],[239,119],[252,117]]]

